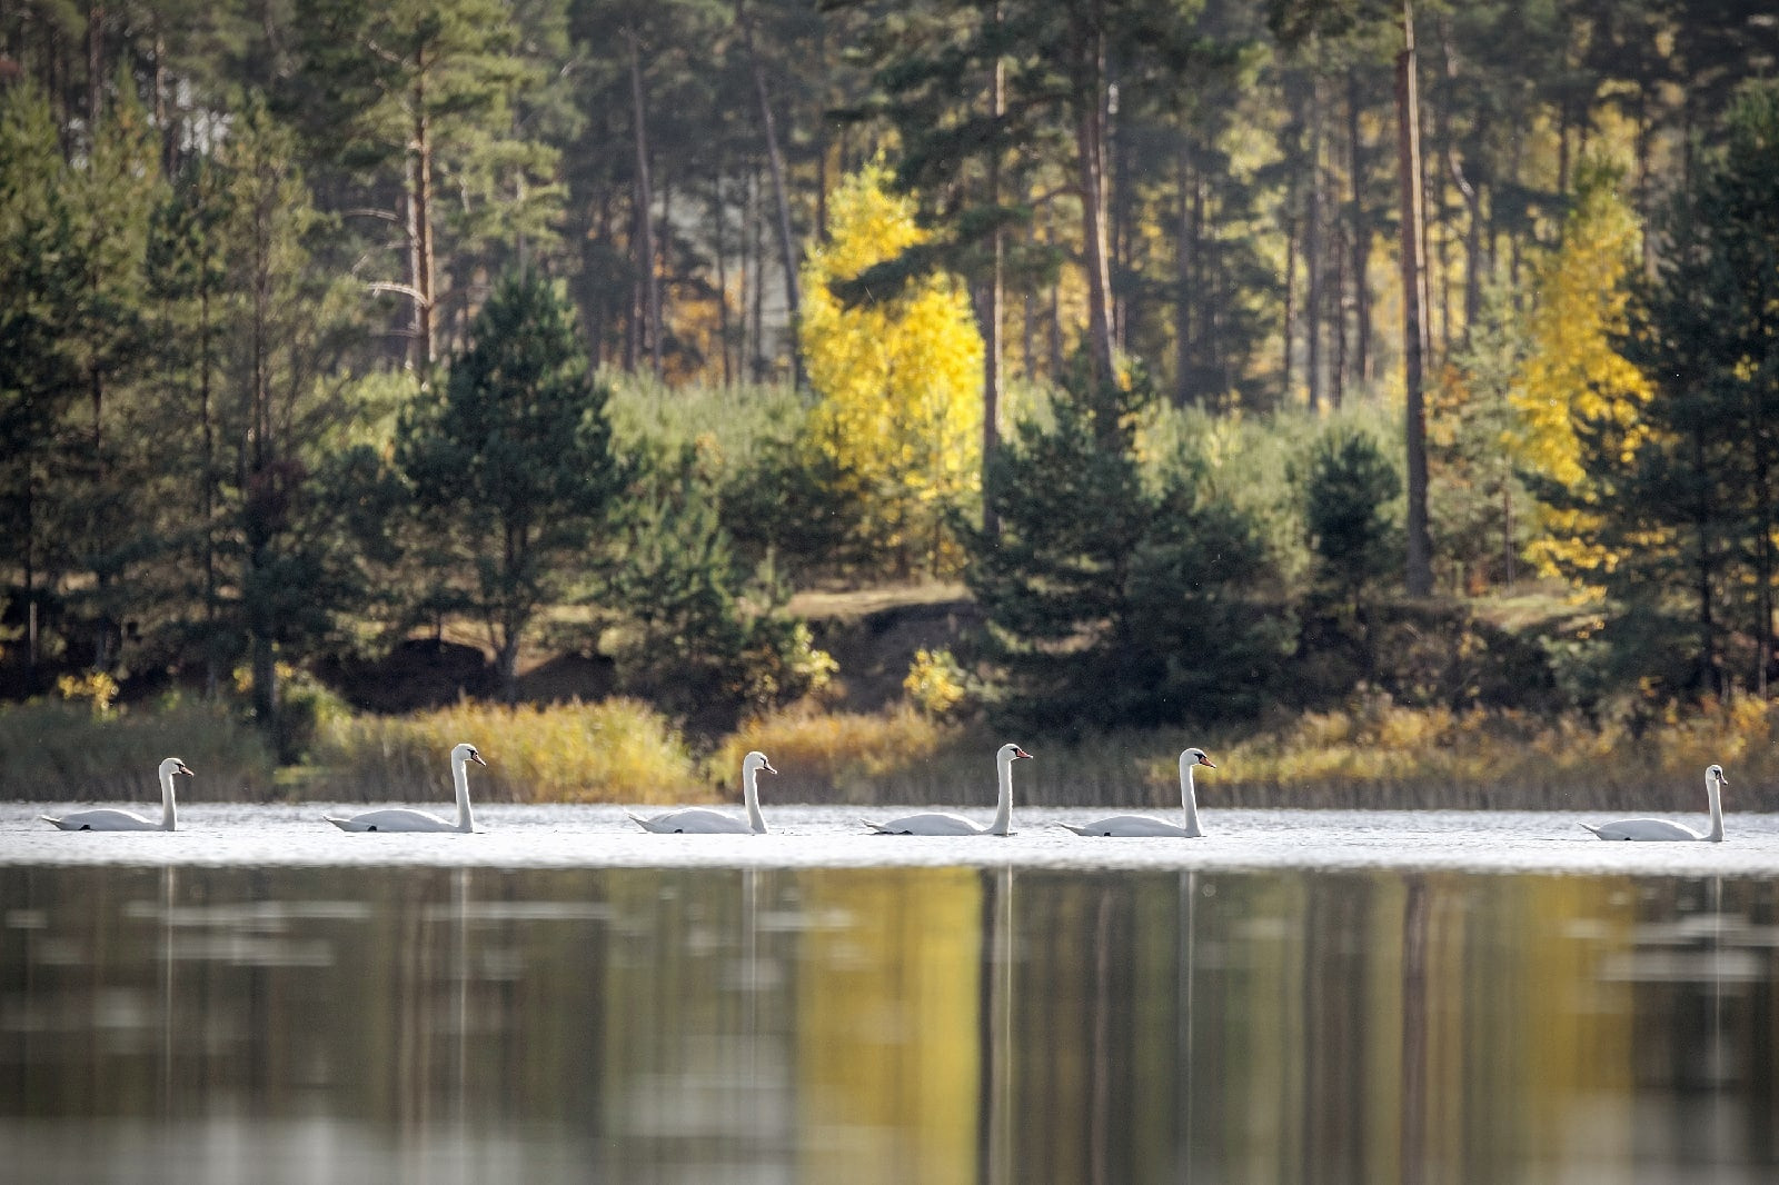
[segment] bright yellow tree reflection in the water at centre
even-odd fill
[[[811,877],[797,1094],[802,1180],[970,1181],[980,1091],[982,883],[975,872]]]

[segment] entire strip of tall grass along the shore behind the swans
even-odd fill
[[[1178,804],[1178,756],[1203,746],[1217,772],[1199,802],[1308,808],[1703,810],[1704,767],[1729,772],[1731,810],[1779,810],[1779,717],[1743,699],[1667,713],[1633,730],[1521,712],[1402,708],[1354,697],[1263,730],[1158,730],[1085,737],[1000,735],[934,721],[913,708],[881,713],[786,710],[751,721],[697,760],[653,708],[628,699],[551,708],[464,703],[409,717],[326,719],[310,765],[279,770],[258,733],[226,712],[173,705],[96,717],[85,706],[0,710],[0,795],[30,801],[151,801],[155,763],[181,756],[190,799],[425,801],[450,795],[447,753],[477,744],[480,801],[697,802],[737,794],[742,754],[779,769],[763,792],[777,802],[987,806],[994,749],[1016,740],[1034,756],[1014,795],[1042,806]]]

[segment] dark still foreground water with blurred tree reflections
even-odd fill
[[[1765,881],[0,868],[18,1180],[1770,1180]]]

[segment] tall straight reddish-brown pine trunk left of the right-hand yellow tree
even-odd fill
[[[1427,523],[1427,409],[1421,365],[1427,326],[1421,308],[1421,132],[1416,89],[1414,7],[1402,4],[1402,52],[1397,53],[1397,165],[1402,196],[1402,381],[1409,470],[1409,596],[1434,591],[1434,544]]]

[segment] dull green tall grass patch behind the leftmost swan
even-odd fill
[[[0,708],[0,795],[30,802],[160,801],[157,767],[183,758],[181,799],[238,802],[274,794],[272,751],[222,706],[167,703],[96,715],[84,703]]]

